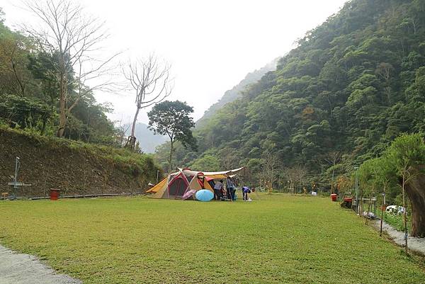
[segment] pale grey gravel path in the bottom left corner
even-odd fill
[[[0,245],[0,284],[81,284],[55,271],[35,256],[18,254]]]

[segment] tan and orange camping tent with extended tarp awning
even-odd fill
[[[180,169],[169,174],[162,181],[150,188],[146,193],[153,193],[152,198],[182,199],[187,191],[199,191],[208,189],[214,193],[210,181],[218,178],[228,178],[236,175],[244,168],[232,169],[230,171],[192,171],[191,169]],[[188,198],[195,199],[195,194]]]

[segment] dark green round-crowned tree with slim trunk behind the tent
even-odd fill
[[[149,128],[155,134],[167,135],[170,140],[169,171],[173,166],[174,142],[179,141],[184,147],[196,149],[196,139],[192,135],[195,126],[189,115],[193,108],[181,101],[163,101],[157,103],[147,113]]]

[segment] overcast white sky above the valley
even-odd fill
[[[0,0],[6,24],[28,21],[14,6]],[[78,1],[78,0],[76,0]],[[223,93],[254,69],[292,49],[297,38],[339,11],[346,0],[79,0],[87,13],[106,21],[108,50],[122,57],[150,52],[171,62],[175,78],[169,99],[186,101],[200,118]],[[126,123],[135,113],[132,96],[96,93],[113,104],[113,120]],[[146,111],[139,121],[147,123]]]

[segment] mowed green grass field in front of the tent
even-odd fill
[[[0,202],[0,244],[84,283],[425,283],[421,263],[328,198],[251,197]]]

